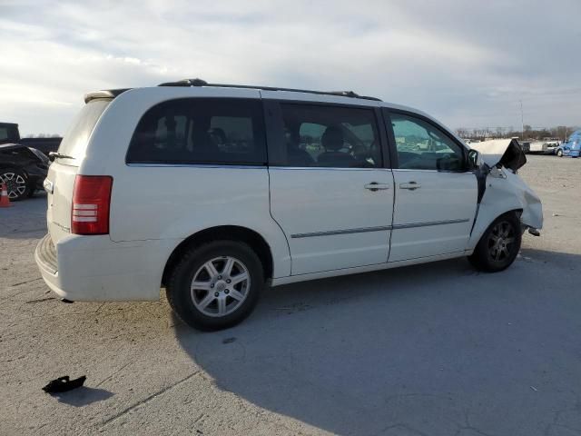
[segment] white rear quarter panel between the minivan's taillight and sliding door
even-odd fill
[[[282,277],[291,273],[291,258],[269,201],[267,168],[127,166],[113,179],[111,239],[172,240],[174,248],[204,229],[236,225],[261,234],[273,275]]]

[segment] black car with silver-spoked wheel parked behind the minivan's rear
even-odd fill
[[[11,201],[31,197],[43,189],[48,158],[35,148],[21,144],[0,145],[0,183],[5,183]]]

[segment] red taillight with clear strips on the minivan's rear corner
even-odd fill
[[[71,233],[108,234],[113,177],[77,175],[74,179]]]

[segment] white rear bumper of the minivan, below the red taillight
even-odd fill
[[[54,246],[47,234],[34,259],[48,287],[67,300],[150,301],[159,299],[172,243],[113,243],[108,235],[69,235]]]

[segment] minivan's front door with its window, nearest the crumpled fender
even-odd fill
[[[428,120],[397,112],[389,118],[397,154],[389,262],[463,252],[478,201],[468,150]]]

